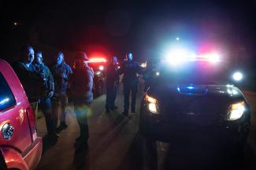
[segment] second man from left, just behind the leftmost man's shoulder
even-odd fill
[[[56,133],[57,125],[54,125],[53,120],[58,120],[58,115],[52,114],[52,108],[50,103],[50,98],[54,96],[54,78],[50,73],[50,70],[43,63],[42,52],[35,52],[35,62],[34,62],[35,71],[37,71],[41,78],[44,81],[44,96],[39,99],[39,109],[43,111],[43,114],[46,119],[46,128],[48,135],[57,139],[58,135]]]

